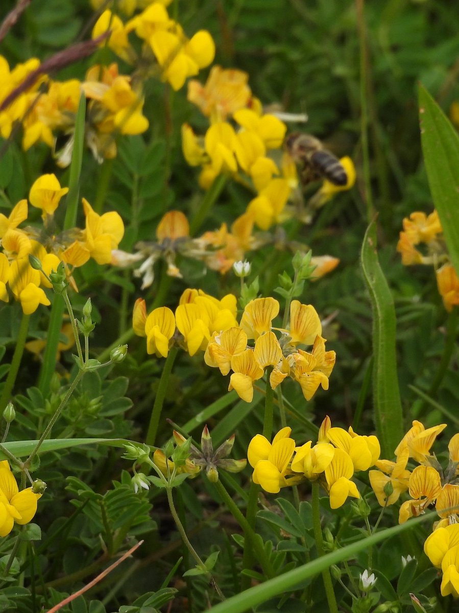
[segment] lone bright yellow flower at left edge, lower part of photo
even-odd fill
[[[20,492],[8,462],[0,462],[0,536],[9,535],[14,522],[28,524],[37,512],[39,498],[31,487]]]

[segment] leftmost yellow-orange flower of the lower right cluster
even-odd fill
[[[389,504],[395,503],[400,494],[408,490],[409,476],[411,474],[409,470],[406,470],[408,453],[408,447],[405,447],[404,452],[398,456],[396,462],[379,460],[376,462],[376,467],[379,470],[368,471],[370,485],[381,506],[389,506]],[[384,492],[384,488],[388,483],[392,485],[392,493],[389,496]]]

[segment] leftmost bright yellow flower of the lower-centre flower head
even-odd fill
[[[286,474],[295,451],[295,441],[289,438],[290,428],[279,430],[271,444],[265,436],[252,438],[247,451],[250,465],[254,468],[253,482],[270,493],[278,493],[287,484]]]

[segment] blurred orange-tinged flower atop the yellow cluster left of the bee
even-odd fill
[[[188,100],[212,121],[224,121],[248,104],[251,97],[248,78],[242,70],[213,66],[204,86],[195,80],[188,83]]]

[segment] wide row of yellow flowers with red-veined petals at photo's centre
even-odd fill
[[[286,330],[273,328],[279,303],[274,298],[251,300],[236,319],[236,297],[217,300],[202,290],[188,289],[174,313],[167,307],[146,314],[145,300],[134,307],[133,327],[146,337],[147,351],[166,357],[173,338],[191,356],[205,351],[205,363],[230,376],[229,390],[235,389],[245,402],[252,402],[254,383],[270,368],[270,385],[275,389],[290,376],[300,384],[306,400],[317,388],[328,389],[328,377],[335,365],[335,352],[325,351],[321,320],[312,305],[298,300],[290,304],[290,325]],[[177,330],[177,332],[176,332]],[[279,341],[272,330],[281,333]],[[248,345],[253,339],[254,346]],[[311,352],[298,345],[312,345]]]

